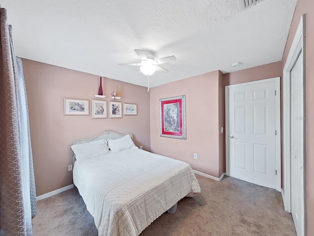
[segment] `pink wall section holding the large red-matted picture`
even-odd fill
[[[219,176],[219,71],[151,89],[151,150],[186,161],[194,170]],[[186,140],[160,137],[159,99],[186,96]],[[193,158],[198,154],[198,159]]]

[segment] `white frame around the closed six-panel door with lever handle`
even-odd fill
[[[276,147],[275,147],[275,155],[276,155],[276,190],[281,191],[281,127],[280,127],[280,77],[257,80],[247,83],[241,83],[236,85],[228,85],[225,86],[225,126],[226,126],[226,175],[230,176],[230,167],[229,167],[229,88],[248,86],[248,85],[257,85],[262,83],[275,82],[275,119],[276,119]],[[275,91],[274,91],[275,92]],[[275,132],[275,130],[274,130]]]

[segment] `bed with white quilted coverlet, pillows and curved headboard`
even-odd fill
[[[99,236],[138,236],[201,191],[189,164],[137,148],[129,133],[104,131],[71,148],[73,181]]]

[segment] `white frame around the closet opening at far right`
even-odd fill
[[[304,235],[305,232],[305,222],[306,222],[306,54],[305,54],[305,14],[302,15],[298,28],[295,32],[293,42],[284,66],[284,190],[282,189],[282,196],[285,210],[291,212],[291,160],[290,160],[290,71],[295,64],[295,61],[300,56],[302,59],[302,79],[303,79],[303,227],[302,231]]]

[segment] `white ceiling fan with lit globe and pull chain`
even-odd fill
[[[148,77],[148,91],[149,91],[149,77],[155,73],[155,71],[166,73],[168,70],[165,68],[162,68],[159,66],[160,64],[175,61],[176,57],[175,56],[170,56],[170,57],[165,57],[165,58],[160,58],[155,60],[154,55],[150,51],[143,51],[140,49],[135,49],[134,50],[138,57],[141,59],[140,63],[120,63],[118,65],[135,65],[135,66],[140,66],[139,67],[139,72],[137,73],[138,75],[147,75]]]

